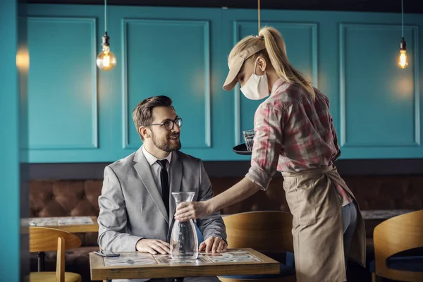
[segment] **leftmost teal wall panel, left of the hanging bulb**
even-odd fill
[[[95,18],[29,18],[28,41],[30,149],[98,148]]]

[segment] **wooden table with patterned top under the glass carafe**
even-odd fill
[[[237,252],[248,254],[256,261],[243,254],[234,259]],[[223,259],[226,262],[222,262]],[[122,261],[129,263],[124,264]],[[121,252],[121,257],[104,258],[90,252],[90,270],[91,280],[278,274],[280,271],[279,262],[247,248],[228,250],[221,256],[201,253],[194,262],[186,263],[172,262],[170,255]]]

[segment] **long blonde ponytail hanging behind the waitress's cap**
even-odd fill
[[[312,99],[314,99],[316,93],[314,92],[312,82],[309,82],[305,75],[297,71],[288,61],[288,56],[286,56],[286,45],[281,33],[274,27],[263,27],[259,32],[259,37],[264,39],[266,52],[269,55],[268,59],[278,76],[286,82],[300,85],[304,90],[309,92],[309,94],[312,95]],[[260,54],[256,55],[259,56]]]

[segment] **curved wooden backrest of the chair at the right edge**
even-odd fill
[[[386,259],[398,252],[423,247],[423,209],[379,223],[374,228],[376,275],[400,281],[423,281],[423,272],[388,269]]]

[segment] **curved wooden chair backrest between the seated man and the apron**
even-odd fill
[[[228,247],[293,252],[293,216],[287,212],[243,212],[224,216]]]

